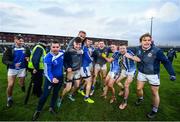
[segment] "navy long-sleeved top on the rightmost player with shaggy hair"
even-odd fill
[[[170,75],[175,75],[172,64],[166,58],[163,51],[156,46],[152,46],[148,50],[143,50],[139,46],[135,47],[133,51],[141,59],[141,62],[137,63],[140,72],[144,74],[159,74],[160,63],[162,63]]]

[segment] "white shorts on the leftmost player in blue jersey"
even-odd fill
[[[17,76],[17,77],[25,77],[26,69],[8,69],[8,76]]]

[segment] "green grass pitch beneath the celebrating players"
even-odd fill
[[[7,69],[2,64],[0,56],[0,120],[31,120],[32,115],[37,106],[38,98],[35,96],[30,97],[29,103],[24,105],[25,93],[23,93],[18,85],[15,83],[13,98],[13,107],[6,107],[6,87],[7,87]],[[155,121],[179,121],[180,120],[180,53],[178,58],[173,63],[177,80],[170,81],[169,75],[161,66],[161,86],[160,86],[160,107]],[[26,89],[30,82],[30,74],[26,78]],[[117,86],[116,93],[117,93]],[[65,97],[63,104],[58,111],[57,115],[51,115],[48,112],[49,96],[43,111],[38,120],[43,121],[147,121],[146,113],[151,110],[151,92],[148,84],[144,89],[144,103],[141,106],[135,106],[136,97],[136,79],[130,86],[130,95],[128,99],[128,106],[125,110],[119,110],[118,106],[122,98],[116,95],[117,101],[113,104],[109,103],[110,94],[107,99],[100,97],[102,93],[102,81],[98,81],[95,89],[95,95],[92,99],[95,100],[94,104],[88,104],[83,101],[80,94],[75,96],[76,101],[71,102]]]

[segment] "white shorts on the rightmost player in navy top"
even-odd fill
[[[147,74],[138,72],[137,79],[138,79],[138,81],[142,81],[142,82],[148,81],[149,84],[151,84],[153,86],[159,86],[160,85],[160,79],[159,79],[159,76],[157,74],[147,75]]]

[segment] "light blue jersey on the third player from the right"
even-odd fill
[[[110,64],[110,71],[111,72],[120,72],[120,65],[119,65],[119,60],[120,60],[121,54],[116,51],[113,53],[112,58],[114,59],[111,64]]]

